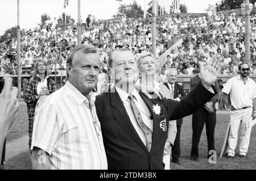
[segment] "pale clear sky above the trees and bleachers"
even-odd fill
[[[145,0],[149,2],[150,0]],[[167,0],[166,0],[167,1]],[[171,1],[171,0],[170,0]],[[123,0],[121,3],[132,3],[133,0]],[[144,7],[144,0],[137,0]],[[180,0],[188,7],[188,12],[206,12],[209,4],[214,5],[219,0]],[[64,12],[64,0],[19,0],[20,28],[30,29],[40,23],[41,15],[48,14],[51,20],[58,18]],[[88,14],[98,19],[110,19],[115,14],[119,1],[115,0],[80,0],[81,19],[85,22]],[[65,9],[77,21],[77,0],[69,0]],[[17,0],[0,0],[0,36],[11,27],[17,25]]]

